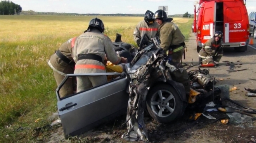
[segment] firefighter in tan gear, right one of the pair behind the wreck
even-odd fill
[[[186,46],[184,35],[175,23],[168,20],[164,10],[157,10],[153,18],[160,25],[160,46],[171,59],[173,66],[176,68],[180,67],[180,61]]]

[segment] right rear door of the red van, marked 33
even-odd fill
[[[244,12],[243,2],[223,2],[224,17],[224,41],[244,42],[247,36],[247,17]],[[234,16],[235,15],[235,16]]]

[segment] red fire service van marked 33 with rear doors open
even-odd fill
[[[199,8],[196,10],[197,4]],[[234,47],[236,51],[247,50],[249,21],[244,0],[200,0],[194,2],[194,14],[197,52],[216,31],[223,32],[221,39],[223,48]]]

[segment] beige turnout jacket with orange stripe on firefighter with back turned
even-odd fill
[[[93,59],[78,60],[79,54],[95,54],[100,56],[102,61],[106,55],[113,64],[118,64],[121,61],[121,57],[114,50],[111,39],[97,29],[81,34],[76,40],[73,49],[73,56],[76,59],[75,71],[76,73],[106,72],[102,62]]]

